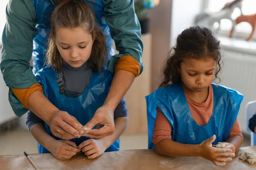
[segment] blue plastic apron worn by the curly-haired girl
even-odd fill
[[[212,84],[213,111],[205,126],[198,125],[193,119],[186,96],[180,83],[159,88],[146,96],[148,116],[148,148],[151,142],[157,107],[172,125],[172,140],[183,144],[200,144],[214,134],[218,142],[225,142],[233,127],[243,96],[230,88]]]

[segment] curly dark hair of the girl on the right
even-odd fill
[[[176,45],[170,50],[169,57],[163,71],[163,81],[159,87],[181,82],[178,71],[180,63],[185,58],[204,59],[211,57],[217,62],[215,78],[221,79],[218,75],[221,72],[221,47],[210,28],[191,26],[177,37]]]

